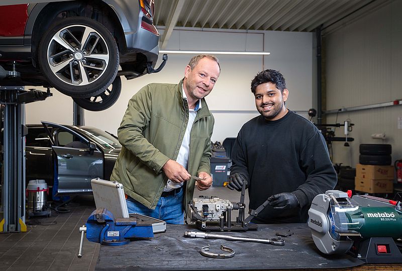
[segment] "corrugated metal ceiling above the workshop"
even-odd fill
[[[174,27],[323,33],[392,0],[155,0],[154,24]]]

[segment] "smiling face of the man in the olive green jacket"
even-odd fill
[[[184,70],[184,91],[188,103],[195,103],[209,95],[214,88],[220,74],[218,63],[208,57],[204,57],[191,69],[186,66]]]

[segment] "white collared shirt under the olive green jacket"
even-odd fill
[[[183,98],[187,101],[187,96],[185,95],[184,92],[184,87],[181,85],[183,89]],[[187,122],[187,127],[184,132],[184,137],[183,141],[181,142],[181,146],[179,149],[179,154],[177,155],[176,162],[181,164],[186,170],[188,170],[188,154],[190,153],[190,132],[192,128],[192,124],[194,123],[195,117],[197,116],[197,111],[201,109],[201,100],[198,100],[198,102],[195,105],[194,109],[188,109],[188,122]],[[172,180],[168,179],[167,184],[163,191],[172,191],[176,188],[182,187],[184,183],[173,183]]]

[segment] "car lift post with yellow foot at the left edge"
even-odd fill
[[[0,86],[0,104],[4,107],[3,131],[3,188],[4,216],[0,232],[27,231],[25,224],[25,104],[43,101],[52,96],[47,92],[24,86]]]

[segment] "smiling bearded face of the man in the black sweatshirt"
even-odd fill
[[[279,120],[286,115],[284,102],[288,95],[289,92],[286,88],[281,93],[274,83],[262,83],[255,88],[255,106],[266,120]]]

